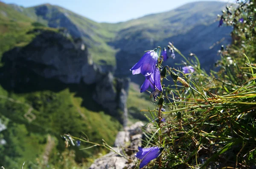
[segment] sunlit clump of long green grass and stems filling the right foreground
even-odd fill
[[[253,2],[245,0],[238,6],[240,13],[233,12],[235,17],[246,13],[248,25],[236,23],[230,11],[221,17],[226,23],[231,23],[230,20],[235,23],[232,34],[236,39],[219,51],[221,60],[216,63],[217,72],[207,74],[195,54],[188,59],[169,43],[183,58],[183,65],[191,66],[193,71],[181,71],[174,65],[166,67],[166,78],[173,79],[174,84],[168,85],[162,77],[163,92],[155,102],[159,101],[158,104],[149,109],[144,105],[141,110],[150,113],[145,126],[152,127],[144,132],[143,148],[155,147],[143,155],[150,157],[141,159],[141,163],[148,162],[143,165],[145,168],[255,168],[256,64],[252,63],[255,48],[250,47],[256,44],[255,7]],[[227,10],[231,10],[229,6]],[[163,68],[160,58],[157,67]],[[132,95],[139,93],[133,88],[131,91]],[[136,101],[129,101],[134,107],[140,107]],[[166,110],[162,110],[163,107]],[[156,146],[161,148],[160,155]],[[137,156],[142,155],[137,153]],[[149,161],[152,157],[156,160]],[[134,156],[126,158],[135,163],[135,168],[138,166]]]

